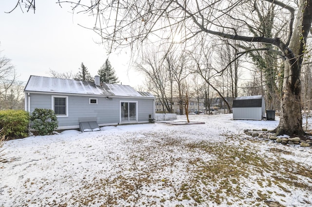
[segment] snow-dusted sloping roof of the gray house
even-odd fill
[[[133,87],[117,84],[101,84],[62,78],[31,75],[24,89],[25,92],[68,93],[82,95],[124,96],[155,98],[149,92],[137,92]]]

